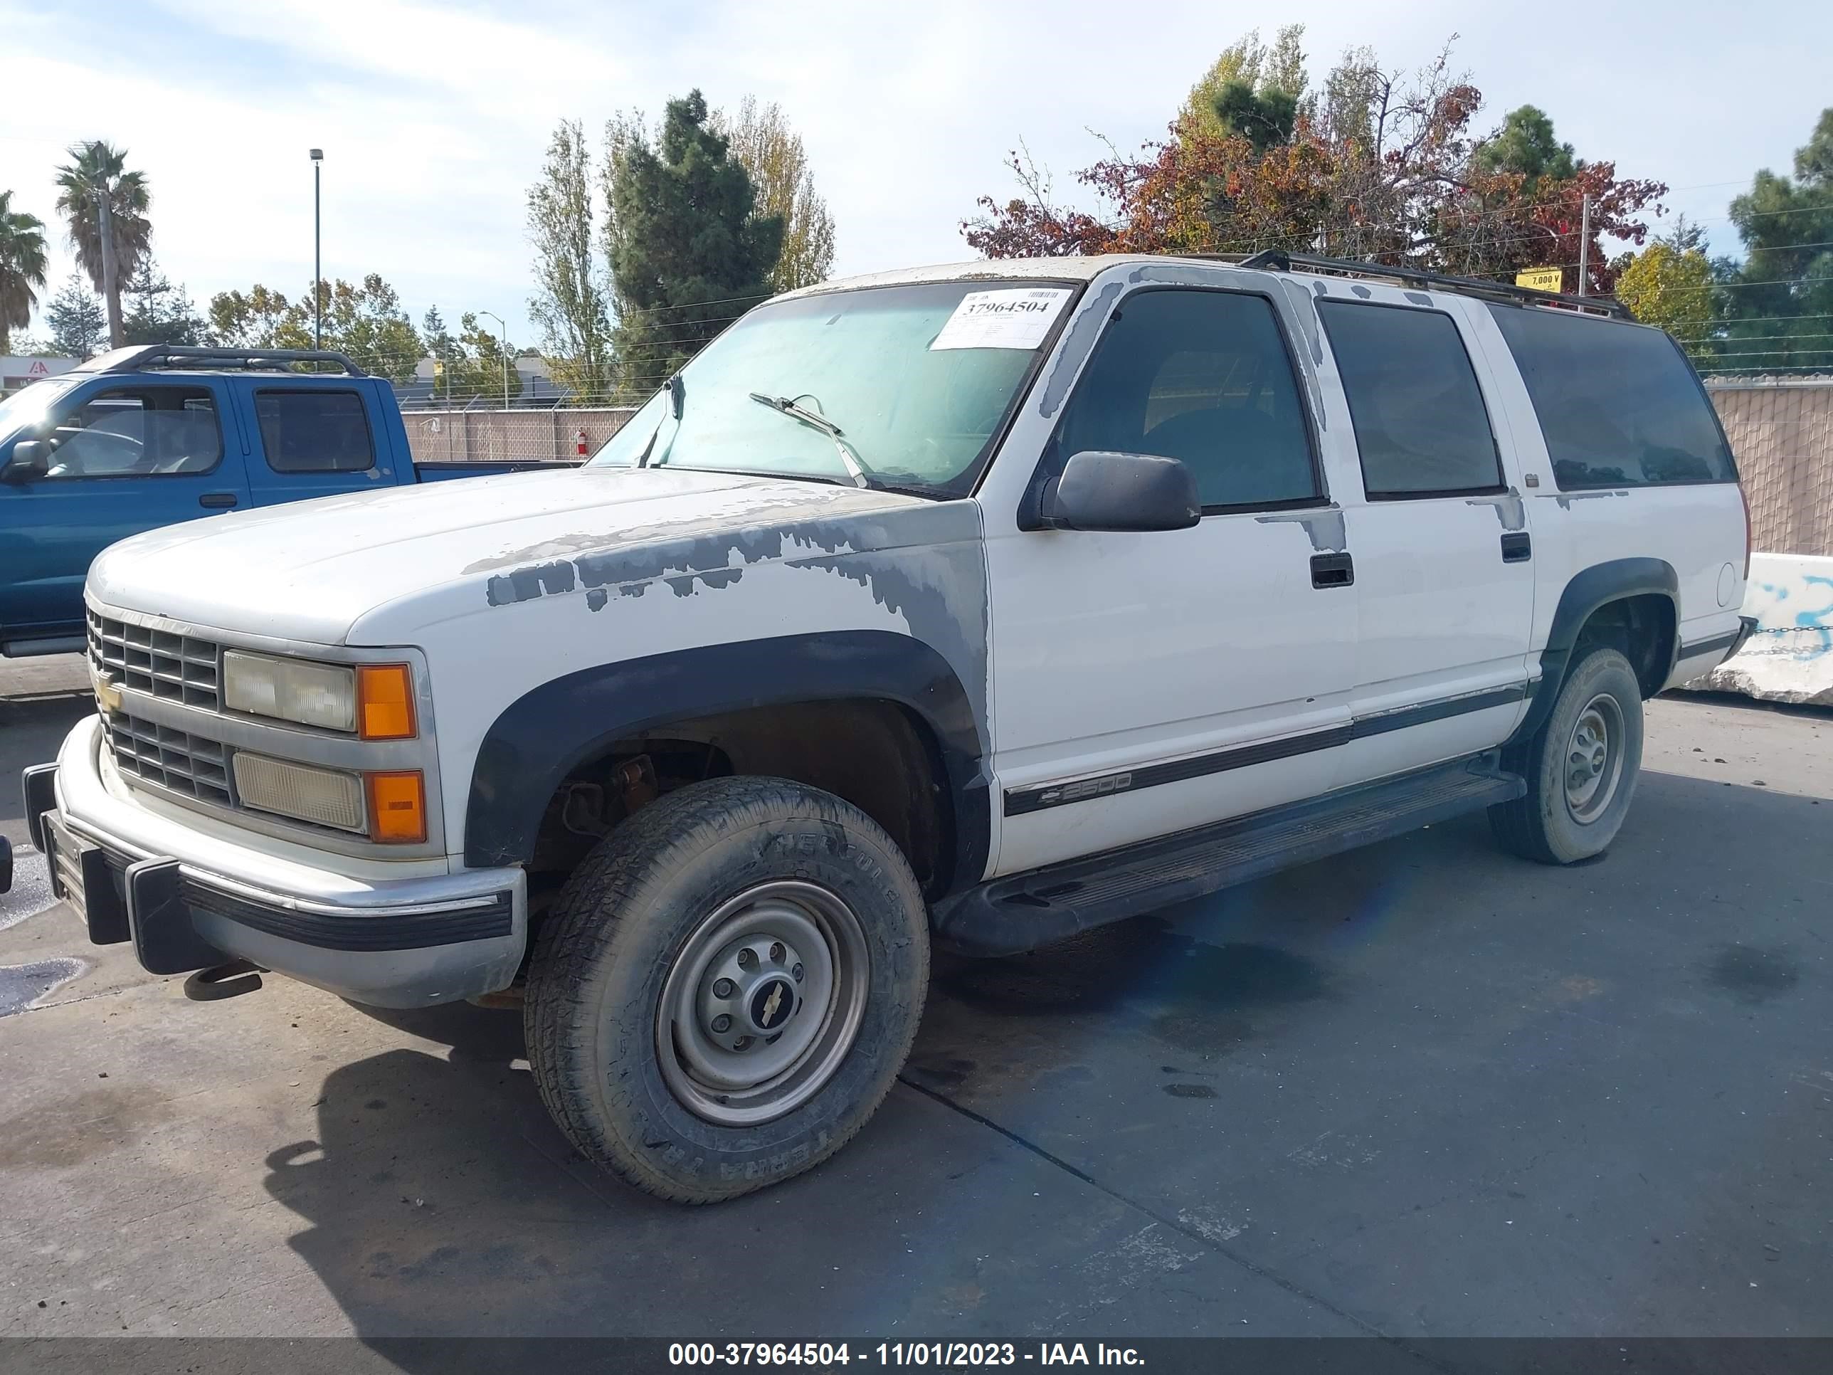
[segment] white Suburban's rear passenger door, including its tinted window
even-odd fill
[[[1534,544],[1470,302],[1331,284],[1318,317],[1362,478],[1345,502],[1358,605],[1340,785],[1499,744],[1525,711]]]

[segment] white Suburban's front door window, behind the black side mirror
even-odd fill
[[[1206,512],[1318,500],[1292,358],[1272,306],[1235,292],[1120,302],[1058,431],[1083,449],[1182,460]]]

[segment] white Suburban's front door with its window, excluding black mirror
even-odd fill
[[[1085,449],[1182,460],[1204,515],[990,532],[995,873],[1325,792],[1347,733],[1358,588],[1276,304],[1122,295],[1045,471]]]

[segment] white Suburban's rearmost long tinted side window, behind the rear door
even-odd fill
[[[1736,482],[1725,434],[1661,330],[1492,304],[1562,488]]]

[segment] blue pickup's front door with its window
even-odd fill
[[[0,488],[0,638],[79,634],[82,579],[108,544],[247,506],[225,414],[220,378],[97,378],[20,434],[53,453],[44,477]]]

